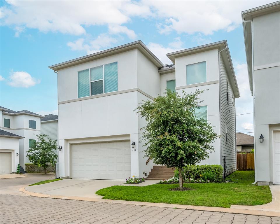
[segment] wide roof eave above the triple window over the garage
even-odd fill
[[[128,50],[138,49],[143,53],[157,68],[164,67],[164,64],[150,51],[150,49],[147,48],[147,46],[142,41],[134,41],[132,43],[127,43],[115,48],[110,48],[108,50],[103,50],[97,53],[93,53],[90,55],[86,55],[83,57],[78,57],[76,59],[72,59],[66,62],[62,62],[59,64],[54,64],[49,66],[50,69],[53,69],[54,71],[58,71],[59,69],[64,69],[67,67],[71,67],[77,64],[89,62],[92,60],[97,60],[102,57],[108,57],[111,55],[115,55],[118,53],[122,53]]]

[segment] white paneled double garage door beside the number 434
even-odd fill
[[[125,180],[130,177],[130,142],[71,146],[71,178]]]

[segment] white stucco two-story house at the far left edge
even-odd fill
[[[25,169],[25,163],[30,163],[26,157],[26,151],[36,141],[35,134],[41,132],[41,117],[43,116],[31,111],[13,111],[0,106],[0,129],[12,134],[10,137],[3,136],[5,137],[3,141],[1,137],[0,157],[6,156],[8,160],[6,167],[10,167],[10,169],[5,168],[7,170],[5,173],[15,172],[18,163],[23,169]],[[6,150],[14,150],[15,153],[8,155]]]

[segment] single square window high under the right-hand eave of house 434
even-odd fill
[[[187,85],[206,82],[206,62],[186,65]]]

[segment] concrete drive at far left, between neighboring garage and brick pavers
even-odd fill
[[[0,194],[22,195],[18,189],[39,181],[51,180],[55,178],[55,174],[53,173],[26,173],[20,175],[25,177],[0,179]]]

